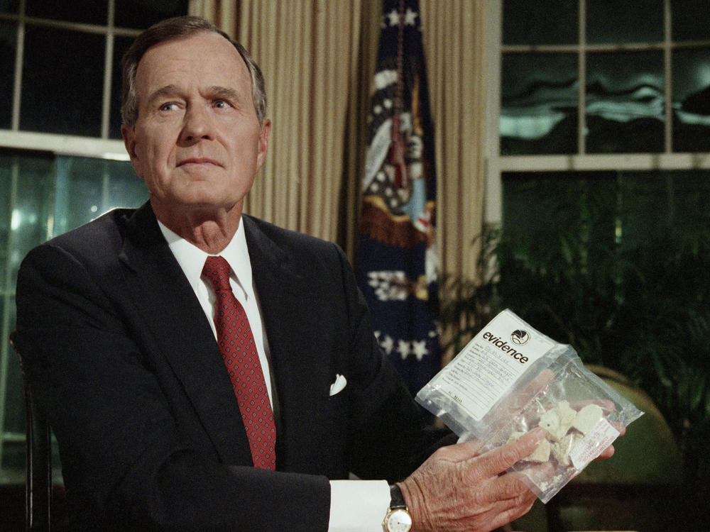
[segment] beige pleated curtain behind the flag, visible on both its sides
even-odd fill
[[[471,277],[484,199],[484,2],[420,0],[435,121],[442,272]],[[193,0],[244,43],[273,121],[246,211],[356,253],[379,0]]]

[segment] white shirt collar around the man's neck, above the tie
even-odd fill
[[[190,286],[192,286],[192,289],[197,293],[200,290],[202,267],[204,267],[204,261],[207,260],[209,253],[205,253],[200,248],[197,248],[196,245],[171,231],[163,225],[160,220],[158,220],[158,226],[165,240],[168,241],[170,251],[173,252],[182,271],[185,272]],[[247,297],[253,296],[251,260],[249,260],[249,248],[246,247],[244,223],[242,223],[241,219],[239,220],[239,228],[237,228],[234,237],[229,241],[226,248],[217,255],[224,257],[224,259],[229,262],[232,279],[246,292]]]

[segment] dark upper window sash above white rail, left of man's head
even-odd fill
[[[120,62],[140,30],[187,1],[0,2],[0,128],[121,138]],[[79,60],[80,59],[80,60]]]

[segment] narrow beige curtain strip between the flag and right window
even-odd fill
[[[476,272],[484,206],[484,2],[420,0],[437,150],[442,271]]]

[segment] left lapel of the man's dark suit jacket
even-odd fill
[[[212,329],[149,204],[129,220],[119,259],[129,270],[127,286],[148,331],[146,342],[153,342],[148,352],[168,362],[220,458],[251,462],[239,405]]]

